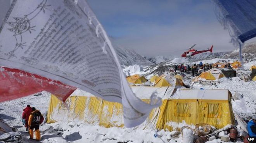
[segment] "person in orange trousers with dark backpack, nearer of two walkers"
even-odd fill
[[[36,110],[35,107],[32,108],[32,112],[28,119],[28,126],[29,126],[29,136],[31,140],[34,138],[33,130],[35,129],[36,134],[36,141],[41,139],[39,126],[43,123],[43,116],[39,110]]]

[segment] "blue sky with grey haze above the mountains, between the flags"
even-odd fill
[[[189,47],[236,49],[211,0],[87,0],[114,42],[142,56],[180,56]]]

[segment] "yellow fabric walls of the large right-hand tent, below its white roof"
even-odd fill
[[[234,113],[228,101],[200,99],[163,100],[156,128],[173,130],[171,123],[206,123],[216,128],[234,124]]]

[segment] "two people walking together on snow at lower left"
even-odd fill
[[[36,110],[35,107],[30,107],[27,105],[25,109],[23,109],[22,113],[22,123],[26,127],[26,131],[29,130],[30,140],[33,140],[34,133],[33,130],[35,129],[36,141],[41,139],[39,126],[43,123],[43,116],[39,110]]]

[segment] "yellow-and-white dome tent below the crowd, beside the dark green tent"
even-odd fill
[[[196,77],[195,80],[198,80],[199,78],[201,79],[206,79],[206,80],[218,80],[222,77],[225,77],[224,74],[222,73],[222,71],[220,69],[210,69],[209,71],[206,72],[202,72],[202,74],[200,74],[200,76]]]

